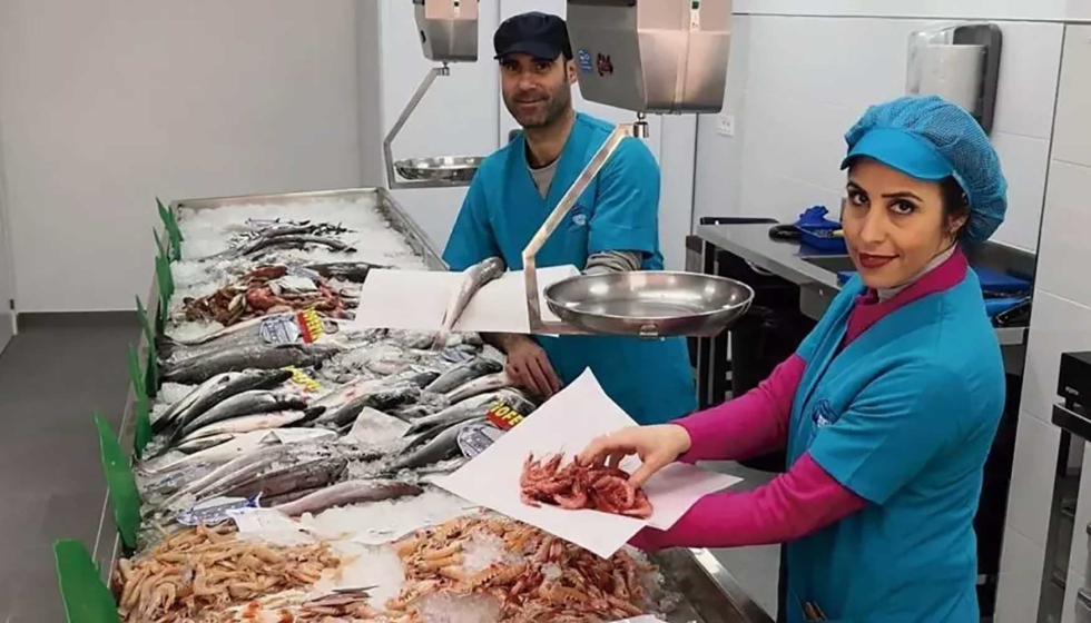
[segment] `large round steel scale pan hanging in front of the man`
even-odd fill
[[[719,333],[750,307],[740,281],[668,270],[580,275],[546,288],[550,309],[579,328],[662,337]]]

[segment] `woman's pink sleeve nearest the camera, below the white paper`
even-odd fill
[[[666,547],[738,547],[800,538],[864,508],[867,502],[804,454],[786,474],[745,493],[706,495],[664,532],[645,528],[630,541]]]

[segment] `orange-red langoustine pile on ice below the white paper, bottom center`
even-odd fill
[[[476,538],[503,543],[505,555],[482,570],[466,567]],[[492,596],[500,621],[553,623],[616,621],[643,614],[642,577],[655,568],[621,551],[610,558],[507,517],[464,516],[395,543],[406,584],[386,603],[386,616],[419,622],[422,597]]]

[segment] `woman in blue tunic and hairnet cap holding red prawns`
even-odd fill
[[[976,121],[938,98],[873,107],[846,140],[858,276],[798,352],[737,399],[596,439],[581,459],[638,454],[639,485],[674,461],[786,447],[787,473],[633,544],[787,543],[789,623],[977,621],[972,524],[1004,370],[959,243],[996,230],[1006,184]]]

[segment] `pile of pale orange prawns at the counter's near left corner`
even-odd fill
[[[118,561],[114,587],[126,622],[219,621],[232,605],[311,586],[341,561],[325,543],[292,547],[242,541],[228,527],[198,526]]]

